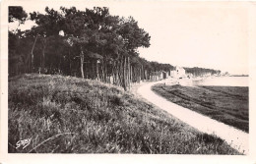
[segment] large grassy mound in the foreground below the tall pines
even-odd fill
[[[23,75],[8,91],[9,153],[239,154],[110,84]]]

